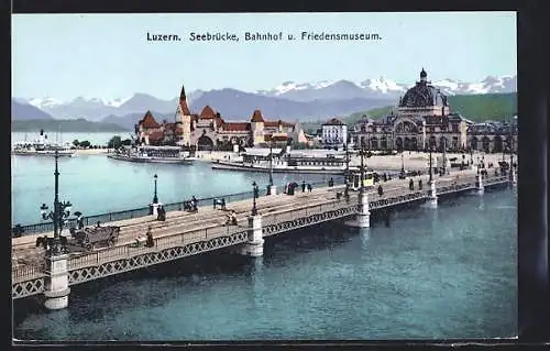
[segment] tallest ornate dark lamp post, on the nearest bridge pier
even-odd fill
[[[54,196],[54,209],[47,212],[46,204],[42,204],[40,207],[41,215],[44,220],[52,219],[54,222],[54,245],[50,251],[51,255],[58,255],[62,253],[61,248],[61,233],[63,230],[63,224],[65,220],[70,216],[70,209],[73,205],[70,201],[59,201],[59,169],[58,169],[58,151],[55,151],[55,196]]]

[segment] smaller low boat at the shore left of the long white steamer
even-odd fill
[[[107,155],[109,158],[138,163],[169,163],[191,164],[196,158],[190,157],[179,146],[122,146]]]

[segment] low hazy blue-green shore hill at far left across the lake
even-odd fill
[[[78,120],[15,120],[11,122],[12,132],[36,132],[43,129],[51,132],[122,132],[128,131],[120,125],[106,122]]]

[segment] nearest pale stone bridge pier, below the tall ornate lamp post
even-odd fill
[[[62,309],[68,306],[70,288],[68,287],[67,259],[66,254],[46,259],[50,276],[46,277],[45,282],[44,296],[46,300],[44,306],[47,309]]]

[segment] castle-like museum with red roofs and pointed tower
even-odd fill
[[[266,143],[286,146],[308,142],[298,122],[265,120],[260,109],[254,110],[251,119],[245,122],[228,122],[210,106],[205,106],[200,114],[191,113],[185,87],[182,87],[175,122],[158,123],[151,111],[147,111],[135,125],[135,134],[141,144],[176,144],[196,146],[197,150],[234,150],[235,146]]]

